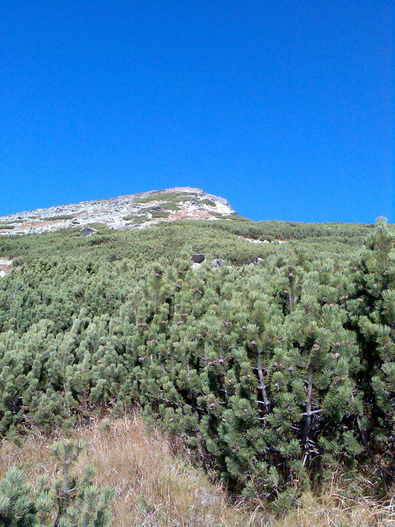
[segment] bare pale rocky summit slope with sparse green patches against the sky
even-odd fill
[[[235,211],[224,198],[193,187],[174,187],[0,216],[0,235],[82,229],[94,224],[112,229],[141,229],[163,221],[182,218],[215,221],[231,214]]]

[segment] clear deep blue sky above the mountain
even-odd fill
[[[176,185],[394,221],[392,0],[4,0],[0,215]]]

